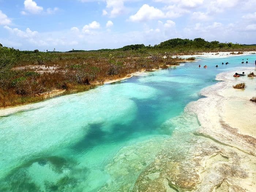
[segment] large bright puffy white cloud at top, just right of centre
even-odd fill
[[[165,18],[165,14],[161,10],[149,6],[148,4],[144,4],[135,15],[130,16],[129,20],[133,22],[142,22],[161,18]]]

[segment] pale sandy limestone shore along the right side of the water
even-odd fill
[[[177,120],[182,128],[177,127],[155,161],[140,174],[133,191],[255,191],[256,103],[249,99],[256,96],[256,78],[234,78],[237,71],[248,74],[255,68],[217,75],[222,82],[203,89],[205,98],[188,104]],[[232,87],[241,82],[246,83],[245,90]],[[197,126],[191,121],[193,116]],[[186,126],[198,128],[191,134]]]

